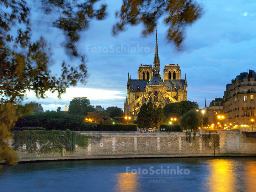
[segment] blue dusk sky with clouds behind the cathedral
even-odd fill
[[[153,65],[155,53],[155,32],[142,37],[143,26],[128,26],[128,30],[118,36],[112,36],[111,30],[118,21],[114,12],[119,10],[122,1],[105,1],[108,5],[108,17],[103,21],[93,20],[88,31],[81,33],[78,49],[86,54],[86,65],[90,74],[86,85],[77,85],[67,89],[61,99],[57,94],[48,93],[48,98],[38,99],[33,92],[27,92],[22,102],[42,103],[45,110],[56,110],[58,106],[65,110],[65,104],[73,97],[87,97],[91,105],[124,107],[128,72],[132,79],[138,78],[139,65]],[[186,28],[183,41],[185,49],[178,52],[174,44],[167,43],[167,26],[163,18],[159,20],[158,53],[161,75],[164,65],[179,64],[181,78],[187,77],[188,100],[196,101],[200,108],[207,106],[214,98],[223,98],[226,84],[236,75],[256,70],[256,1],[252,0],[206,0],[197,1],[204,8],[204,14],[195,23]],[[33,14],[32,14],[33,15]],[[43,35],[51,42],[54,62],[50,66],[52,74],[59,74],[63,60],[69,61],[61,42],[61,31],[50,28],[52,16],[33,15],[34,37]],[[48,26],[48,27],[44,27]],[[49,29],[48,29],[49,28]],[[99,51],[99,46],[101,47]],[[118,47],[123,47],[119,52]],[[133,52],[128,52],[128,48]],[[138,47],[140,48],[138,50]],[[143,47],[143,48],[142,48]],[[103,49],[102,49],[103,48]]]

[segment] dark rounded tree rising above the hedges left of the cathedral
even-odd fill
[[[95,108],[91,105],[87,97],[74,97],[69,103],[68,112],[86,116],[88,112],[94,112]]]

